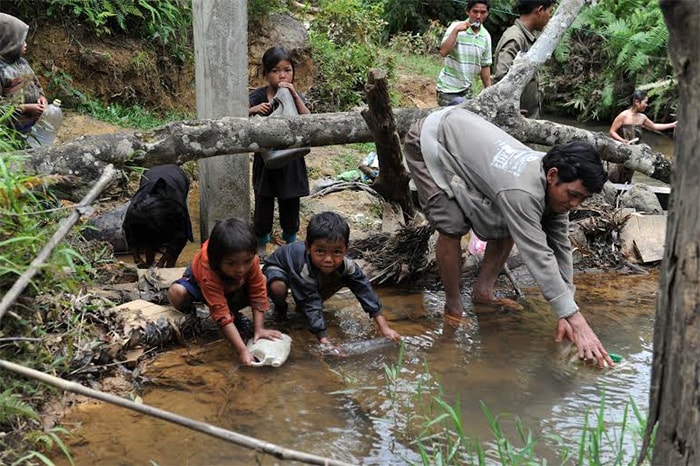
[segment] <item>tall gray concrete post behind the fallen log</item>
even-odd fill
[[[248,116],[248,4],[193,0],[197,118]],[[242,155],[199,160],[200,234],[217,220],[250,218],[250,163]]]

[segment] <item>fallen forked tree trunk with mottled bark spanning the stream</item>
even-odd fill
[[[465,108],[500,126],[524,143],[563,144],[586,139],[595,144],[604,160],[668,182],[671,161],[646,145],[624,145],[602,133],[543,120],[528,120],[518,112],[519,98],[534,72],[552,55],[564,32],[583,7],[584,0],[561,2],[540,38],[527,54],[519,55],[506,77],[464,104]],[[397,109],[396,132],[403,136],[410,125],[433,109]],[[152,131],[86,136],[67,144],[28,151],[26,168],[41,174],[78,175],[72,197],[80,197],[107,164],[181,164],[189,160],[227,154],[247,154],[259,149],[318,147],[373,142],[360,112],[325,113],[291,118],[222,118],[173,122]]]

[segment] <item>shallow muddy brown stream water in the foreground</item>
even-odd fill
[[[611,425],[622,421],[630,400],[646,413],[658,273],[578,273],[575,282],[589,323],[608,351],[623,357],[613,369],[584,366],[570,357],[568,344],[555,343],[556,321],[537,288],[524,288],[523,312],[477,317],[471,309],[471,320],[457,329],[442,318],[441,291],[379,288],[385,316],[404,337],[403,364],[391,389],[385,366],[397,364],[399,347],[379,338],[353,295],[343,291],[326,303],[326,316],[346,357],[321,355],[292,307],[278,326],[293,338],[283,366],[241,367],[225,341],[194,342],[149,362],[139,394],[147,405],[283,447],[352,464],[399,465],[421,462],[411,443],[415,432],[406,427],[411,409],[421,407],[407,406],[430,380],[439,380],[444,399],[459,400],[467,435],[487,445],[493,436],[481,403],[493,414],[519,416],[535,435],[559,436],[575,447],[584,413],[590,425],[602,396]],[[469,303],[466,292],[464,299]],[[62,422],[75,432],[69,446],[77,465],[280,463],[94,400],[76,404]],[[512,418],[502,422],[515,440]],[[632,458],[636,446],[627,447]],[[548,440],[538,453],[559,463],[559,447]]]

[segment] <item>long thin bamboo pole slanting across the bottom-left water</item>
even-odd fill
[[[310,453],[304,453],[297,450],[291,450],[289,448],[284,448],[274,443],[265,442],[263,440],[258,440],[254,437],[249,437],[247,435],[239,434],[230,430],[222,429],[221,427],[216,427],[206,422],[195,421],[185,416],[180,416],[178,414],[171,413],[162,409],[154,408],[153,406],[148,406],[144,404],[135,403],[126,398],[121,398],[115,395],[110,395],[109,393],[104,393],[99,390],[94,390],[92,388],[84,387],[76,382],[71,382],[69,380],[61,379],[59,377],[54,377],[53,375],[45,374],[43,372],[30,369],[28,367],[15,364],[10,361],[0,359],[0,368],[6,369],[12,372],[16,372],[30,379],[35,379],[54,387],[58,387],[61,390],[66,390],[69,392],[77,393],[79,395],[89,396],[107,403],[111,403],[122,408],[131,409],[148,416],[157,417],[174,424],[187,427],[188,429],[196,430],[202,432],[211,437],[215,437],[221,440],[225,440],[236,445],[240,445],[251,450],[259,451],[272,455],[278,459],[289,460],[289,461],[300,461],[305,464],[320,464],[326,466],[351,466],[349,463],[343,461],[334,460],[331,458],[324,458],[322,456],[313,455]]]

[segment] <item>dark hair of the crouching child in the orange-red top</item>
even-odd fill
[[[224,257],[237,252],[258,251],[258,239],[253,229],[240,218],[219,220],[214,225],[209,235],[209,266],[214,271],[221,270],[221,261]]]

